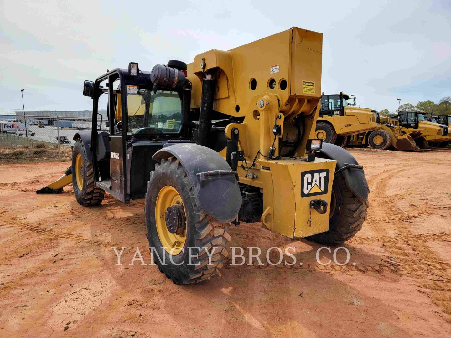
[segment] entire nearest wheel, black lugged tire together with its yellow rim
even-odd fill
[[[216,275],[217,268],[223,266],[222,259],[228,256],[226,243],[231,239],[228,224],[217,222],[199,210],[195,193],[175,157],[156,164],[147,183],[144,207],[147,240],[160,272],[175,284],[198,283]],[[176,233],[166,226],[168,208],[177,208],[184,214],[179,218],[183,222],[176,222]],[[208,254],[212,256],[211,264]]]

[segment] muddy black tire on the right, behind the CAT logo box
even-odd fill
[[[362,202],[346,186],[342,173],[334,177],[329,216],[329,230],[309,239],[324,245],[346,242],[360,231],[367,217],[368,201]]]

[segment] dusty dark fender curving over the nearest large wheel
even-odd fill
[[[158,162],[175,156],[194,187],[198,208],[221,223],[238,215],[242,198],[238,174],[216,151],[194,143],[166,143],[152,159]]]

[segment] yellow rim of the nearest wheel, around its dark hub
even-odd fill
[[[170,233],[166,227],[165,212],[168,207],[177,204],[183,206],[182,197],[175,190],[175,187],[170,185],[162,187],[155,203],[156,232],[166,252],[174,256],[178,255],[185,245],[186,230],[184,236]]]

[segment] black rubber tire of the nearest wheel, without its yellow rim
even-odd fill
[[[161,189],[168,185],[175,188],[181,197],[186,218],[185,243],[182,251],[176,255],[171,255],[163,247],[155,219],[157,198]],[[195,194],[193,184],[175,157],[163,159],[161,164],[156,164],[155,171],[151,173],[147,183],[144,206],[147,240],[151,251],[153,249],[161,260],[163,256],[166,257],[165,264],[156,256],[154,256],[154,262],[158,265],[160,272],[172,279],[175,284],[191,284],[207,280],[216,275],[217,268],[223,266],[223,257],[228,256],[226,243],[231,239],[228,223],[217,222],[199,210]],[[189,247],[192,263],[196,265],[189,265]],[[209,264],[209,257],[204,247],[207,247],[209,253],[213,253],[212,264]]]

